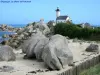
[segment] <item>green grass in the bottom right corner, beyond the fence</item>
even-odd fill
[[[81,72],[80,75],[100,75],[100,64]]]

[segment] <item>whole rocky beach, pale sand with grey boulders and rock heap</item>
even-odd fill
[[[37,73],[46,75],[44,73],[49,74],[49,72],[56,74],[57,70],[73,67],[74,64],[87,59],[90,54],[95,55],[100,51],[99,43],[69,39],[59,34],[53,35],[51,30],[46,24],[35,22],[23,28],[15,28],[13,31],[17,34],[10,35],[10,39],[3,41],[0,46],[0,59],[6,64],[5,66],[0,62],[2,73],[4,75]],[[12,59],[14,61],[9,62]],[[14,72],[9,71],[12,66]],[[5,73],[3,71],[5,68],[8,68],[9,72]]]

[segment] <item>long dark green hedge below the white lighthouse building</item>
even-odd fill
[[[68,36],[69,38],[79,38],[85,40],[100,40],[100,28],[82,28],[80,24],[58,23],[54,27],[55,34]]]

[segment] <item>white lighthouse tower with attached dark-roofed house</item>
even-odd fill
[[[70,17],[65,15],[65,16],[60,16],[60,9],[57,7],[56,9],[56,23],[66,23],[67,21],[71,21]]]

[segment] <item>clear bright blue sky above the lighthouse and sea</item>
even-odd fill
[[[2,0],[15,1],[15,0]],[[16,0],[21,1],[21,0]],[[25,1],[25,0],[23,0]],[[0,0],[0,24],[27,24],[44,18],[56,19],[56,8],[74,23],[100,25],[100,0],[26,0],[31,2],[5,3]]]

